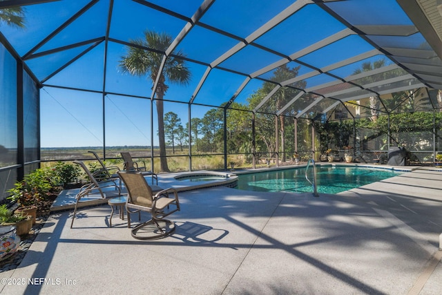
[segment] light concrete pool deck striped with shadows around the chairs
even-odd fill
[[[173,180],[160,175],[165,184]],[[150,242],[115,216],[109,228],[107,204],[80,209],[73,229],[72,211],[52,213],[21,265],[0,274],[0,292],[442,292],[441,171],[422,167],[319,198],[213,187],[182,191],[180,202],[175,234]]]

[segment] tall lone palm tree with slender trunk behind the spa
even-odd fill
[[[191,79],[191,72],[184,64],[184,54],[178,51],[173,56],[166,59],[164,68],[159,72],[164,52],[171,45],[173,39],[166,33],[158,33],[146,30],[144,38],[130,40],[137,47],[128,46],[128,53],[119,61],[119,66],[124,72],[131,75],[144,76],[148,75],[152,84],[158,78],[155,93],[157,96],[157,116],[158,116],[158,140],[160,144],[160,170],[169,172],[166,158],[166,142],[164,139],[164,106],[163,97],[169,86],[166,81],[177,84],[188,84]],[[149,48],[145,49],[145,48]],[[158,75],[160,75],[158,77]]]

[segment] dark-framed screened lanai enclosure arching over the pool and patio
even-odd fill
[[[442,152],[441,0],[0,1],[0,191],[50,163],[156,173]]]

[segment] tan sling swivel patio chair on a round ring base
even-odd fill
[[[175,224],[164,218],[180,210],[177,191],[173,188],[163,189],[154,196],[142,172],[119,171],[117,173],[128,191],[126,202],[128,227],[131,227],[131,213],[139,211],[151,213],[151,219],[132,229],[132,236],[139,240],[152,240],[172,234],[175,231]]]

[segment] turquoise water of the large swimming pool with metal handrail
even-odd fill
[[[358,166],[316,166],[316,184],[318,193],[340,193],[401,173],[403,172]],[[309,179],[313,181],[312,168],[309,169]],[[305,168],[240,174],[237,189],[313,193],[313,187],[305,179]]]

